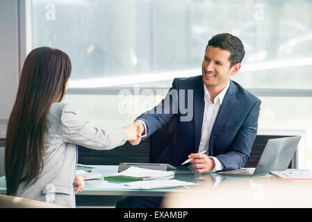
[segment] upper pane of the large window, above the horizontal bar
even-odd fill
[[[69,54],[72,87],[168,87],[200,74],[207,41],[228,32],[245,44],[236,77],[245,87],[311,89],[311,10],[285,0],[33,0],[32,46]]]

